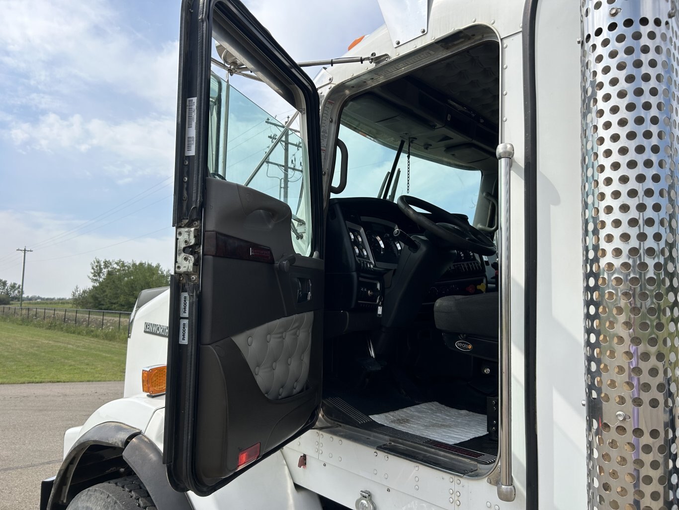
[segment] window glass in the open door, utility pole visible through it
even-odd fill
[[[299,114],[262,84],[252,88],[257,98],[253,101],[230,81],[213,73],[210,82],[210,177],[249,186],[287,203],[293,214],[290,231],[295,251],[308,255],[309,165]],[[260,105],[278,112],[270,114]]]

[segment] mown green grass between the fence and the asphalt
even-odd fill
[[[124,379],[125,340],[74,335],[19,320],[0,319],[0,327],[0,384]]]

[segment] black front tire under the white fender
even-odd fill
[[[156,510],[138,477],[98,483],[75,495],[67,510]]]

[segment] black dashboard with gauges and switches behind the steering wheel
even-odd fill
[[[395,275],[403,250],[394,236],[399,228],[422,235],[393,202],[374,198],[331,199],[326,234],[326,306],[330,310],[375,311]],[[420,303],[439,297],[483,292],[490,263],[472,252],[451,252],[450,262],[436,282],[427,286]]]

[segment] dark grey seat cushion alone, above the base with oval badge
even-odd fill
[[[445,296],[434,304],[437,329],[472,337],[498,338],[500,301],[497,292]]]

